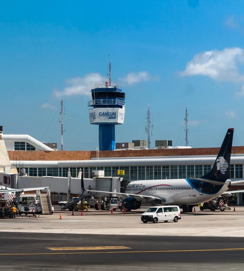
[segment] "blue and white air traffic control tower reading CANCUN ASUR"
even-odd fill
[[[99,150],[115,149],[115,125],[124,123],[125,93],[118,84],[111,84],[111,62],[109,81],[95,85],[91,90],[92,100],[88,102],[90,123],[99,125]]]

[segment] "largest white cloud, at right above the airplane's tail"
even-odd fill
[[[204,75],[218,81],[244,81],[239,73],[238,63],[244,62],[242,48],[225,48],[222,51],[212,50],[198,53],[186,65],[182,76]]]

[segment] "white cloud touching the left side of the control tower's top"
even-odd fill
[[[89,73],[84,77],[75,77],[66,80],[66,84],[70,85],[65,87],[63,91],[54,91],[56,97],[72,96],[72,95],[91,95],[91,88],[97,83],[102,84],[106,78],[102,77],[99,73]],[[105,82],[104,82],[105,83]]]

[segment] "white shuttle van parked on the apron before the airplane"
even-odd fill
[[[150,207],[142,214],[141,217],[143,223],[157,223],[158,221],[168,222],[169,220],[178,222],[179,219],[181,219],[179,206]]]

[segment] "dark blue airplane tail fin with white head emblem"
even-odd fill
[[[230,178],[230,159],[231,148],[233,140],[234,128],[229,128],[219,150],[219,154],[215,160],[213,168],[207,174],[203,175],[201,179],[218,180],[225,182]]]

